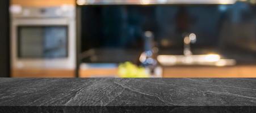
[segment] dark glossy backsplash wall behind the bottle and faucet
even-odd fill
[[[220,54],[240,64],[256,64],[256,6],[232,5],[85,5],[81,10],[83,62],[136,60],[152,31],[158,54],[182,55],[183,38],[195,33],[193,54]],[[93,52],[91,52],[93,51]]]

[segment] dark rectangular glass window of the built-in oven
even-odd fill
[[[68,27],[18,27],[19,58],[65,58]]]

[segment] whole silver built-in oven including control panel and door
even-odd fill
[[[75,8],[11,7],[12,69],[75,69]]]

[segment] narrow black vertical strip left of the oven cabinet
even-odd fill
[[[0,77],[10,76],[9,0],[0,1]]]

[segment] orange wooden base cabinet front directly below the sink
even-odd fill
[[[256,77],[256,66],[166,67],[163,77]]]

